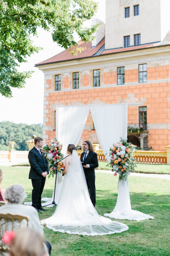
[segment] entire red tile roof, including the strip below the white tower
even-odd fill
[[[102,46],[104,46],[105,38],[103,38],[99,44],[96,47],[92,47],[92,43],[89,41],[87,43],[82,42],[81,40],[78,42],[79,47],[86,48],[81,53],[78,53],[77,56],[72,55],[71,53],[68,53],[67,50],[64,50],[63,52],[60,52],[59,54],[51,57],[50,59],[44,60],[40,63],[37,63],[36,66],[44,65],[44,64],[51,64],[51,63],[57,63],[61,61],[69,61],[69,60],[76,60],[76,59],[83,59],[92,57],[94,54],[96,54]],[[170,44],[170,41],[167,43],[167,45]],[[137,45],[137,46],[130,46],[126,48],[116,48],[116,49],[109,49],[109,50],[103,50],[101,49],[98,53],[98,55],[104,55],[104,54],[111,54],[111,53],[119,53],[119,52],[128,52],[131,50],[140,50],[140,49],[146,49],[146,48],[152,48],[159,46],[159,42],[150,43],[150,44],[143,44],[143,45]],[[96,54],[97,55],[97,54]]]

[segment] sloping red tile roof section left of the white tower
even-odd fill
[[[91,48],[92,42],[88,41],[87,43],[85,43],[80,40],[78,42],[78,46],[84,47],[86,49],[83,50],[81,53],[78,53],[77,56],[74,56],[71,53],[68,53],[67,50],[64,50],[63,52],[60,52],[59,54],[51,57],[48,60],[44,60],[40,63],[37,63],[36,66],[42,65],[42,64],[55,63],[55,62],[59,62],[59,61],[76,60],[76,59],[91,57],[96,52],[98,52],[98,50],[104,45],[104,43],[105,43],[105,38],[103,38],[96,47]]]

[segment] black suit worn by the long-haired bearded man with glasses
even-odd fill
[[[83,162],[84,154],[81,154],[81,162]],[[95,152],[88,152],[88,155],[84,161],[84,165],[89,165],[89,168],[83,167],[84,174],[86,177],[88,191],[90,193],[90,199],[92,204],[95,206],[96,204],[96,189],[95,189],[95,168],[99,166],[98,164],[98,156]]]

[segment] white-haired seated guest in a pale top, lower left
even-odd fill
[[[36,230],[41,236],[43,236],[44,234],[43,227],[40,225],[40,219],[39,219],[37,210],[32,206],[22,204],[25,197],[26,197],[26,194],[24,192],[24,188],[21,185],[15,184],[7,188],[5,192],[5,199],[8,200],[8,203],[0,207],[0,213],[12,213],[12,214],[20,214],[20,215],[28,216],[29,217],[28,226]],[[17,222],[16,222],[16,225],[17,225]],[[14,226],[14,229],[16,228],[18,228],[18,226],[16,227]],[[48,252],[50,254],[51,245],[47,241],[46,241],[46,245],[48,248]]]

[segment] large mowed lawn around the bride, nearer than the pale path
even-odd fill
[[[22,184],[31,200],[32,185],[28,180],[29,167],[0,167],[3,170],[2,186]],[[51,197],[54,178],[46,180],[43,197]],[[118,177],[96,173],[96,210],[100,215],[113,210],[117,199]],[[129,177],[131,207],[154,217],[154,220],[118,220],[129,230],[105,236],[78,236],[54,232],[44,228],[44,236],[52,245],[55,255],[118,255],[118,256],[169,256],[169,180]],[[39,214],[40,219],[50,217],[55,207]]]

